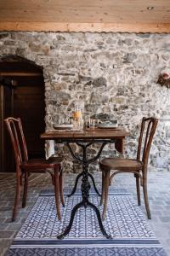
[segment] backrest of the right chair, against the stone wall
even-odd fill
[[[156,118],[143,118],[140,136],[139,136],[139,146],[137,151],[137,160],[141,160],[144,166],[147,166],[151,143],[156,131],[158,119]]]

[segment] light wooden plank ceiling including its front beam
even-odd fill
[[[170,32],[170,0],[0,0],[0,31]]]

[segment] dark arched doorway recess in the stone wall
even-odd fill
[[[20,117],[29,157],[44,157],[45,130],[42,67],[18,55],[0,58],[0,172],[14,172],[14,155],[4,119]]]

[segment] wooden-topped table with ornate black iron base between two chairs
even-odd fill
[[[102,220],[100,217],[99,209],[94,206],[90,201],[88,201],[89,197],[89,190],[90,190],[90,183],[88,182],[88,177],[92,178],[94,183],[94,177],[88,172],[88,165],[97,160],[102,152],[102,149],[108,143],[115,143],[115,148],[120,153],[124,151],[124,139],[125,137],[129,136],[129,132],[125,130],[109,130],[109,129],[98,129],[92,131],[46,131],[42,133],[41,138],[45,140],[55,140],[56,143],[64,143],[70,150],[71,155],[74,159],[78,160],[82,164],[82,172],[77,176],[76,183],[74,189],[71,192],[73,195],[77,189],[77,182],[80,177],[82,177],[82,201],[79,202],[75,207],[73,207],[71,211],[71,219],[70,223],[66,227],[63,234],[59,235],[58,238],[64,238],[71,230],[71,226],[73,224],[73,220],[77,210],[80,207],[91,207],[96,212],[98,221],[99,221],[99,228],[103,235],[106,238],[111,238],[105,231],[105,228],[102,224]],[[82,148],[82,157],[75,154],[71,148],[71,143],[76,143],[79,147]],[[94,143],[99,143],[100,148],[99,152],[94,156],[94,158],[88,159],[87,155],[87,148]],[[94,189],[96,193],[99,195],[99,191],[97,190],[95,183]],[[71,196],[69,195],[69,196]]]

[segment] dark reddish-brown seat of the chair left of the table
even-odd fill
[[[62,157],[50,157],[45,159],[31,159],[21,164],[21,168],[24,170],[43,170],[46,168],[54,168],[59,166],[63,161]]]

